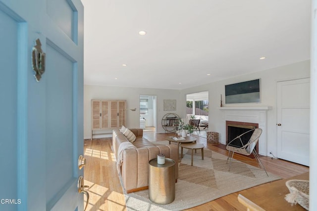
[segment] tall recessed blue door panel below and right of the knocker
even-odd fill
[[[48,202],[73,179],[73,62],[46,48],[46,182]],[[56,174],[55,167],[58,169]],[[76,181],[75,181],[76,182]]]

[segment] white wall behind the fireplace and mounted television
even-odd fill
[[[223,125],[221,123],[220,94],[222,94],[223,106],[271,106],[267,111],[267,134],[265,153],[272,152],[276,155],[276,83],[299,78],[310,77],[310,60],[302,61],[278,68],[260,71],[248,75],[242,75],[211,84],[200,85],[181,90],[181,102],[186,101],[186,94],[200,91],[209,91],[209,130],[219,132],[219,139],[225,143],[225,134],[221,134]],[[261,79],[261,103],[241,103],[225,104],[224,85],[234,84],[243,81]],[[186,113],[185,108],[181,108],[181,115]],[[223,133],[223,132],[222,132]]]

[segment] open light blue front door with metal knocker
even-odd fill
[[[81,1],[0,0],[0,74],[0,210],[83,210]]]

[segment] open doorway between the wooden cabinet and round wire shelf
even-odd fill
[[[157,128],[156,95],[140,95],[140,128],[145,131]]]

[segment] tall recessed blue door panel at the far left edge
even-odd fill
[[[17,38],[18,23],[5,14],[0,7],[0,199],[17,196]],[[10,90],[10,91],[8,91]],[[5,162],[10,161],[10,162]],[[3,191],[5,190],[5,191]],[[15,211],[17,205],[0,204],[0,210]]]

